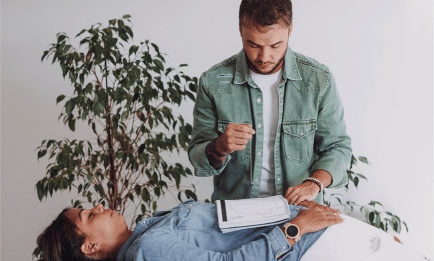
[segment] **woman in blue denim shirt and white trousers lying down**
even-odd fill
[[[216,205],[193,200],[143,219],[134,231],[128,230],[123,216],[101,204],[90,210],[65,209],[39,235],[37,244],[45,261],[426,260],[383,231],[350,217],[344,222],[331,208],[305,204],[311,208],[289,205],[292,219],[286,227],[291,231],[286,237],[285,222],[222,234]],[[336,229],[323,234],[331,225]],[[291,234],[292,229],[298,229],[298,235]],[[351,229],[357,234],[346,233]]]

